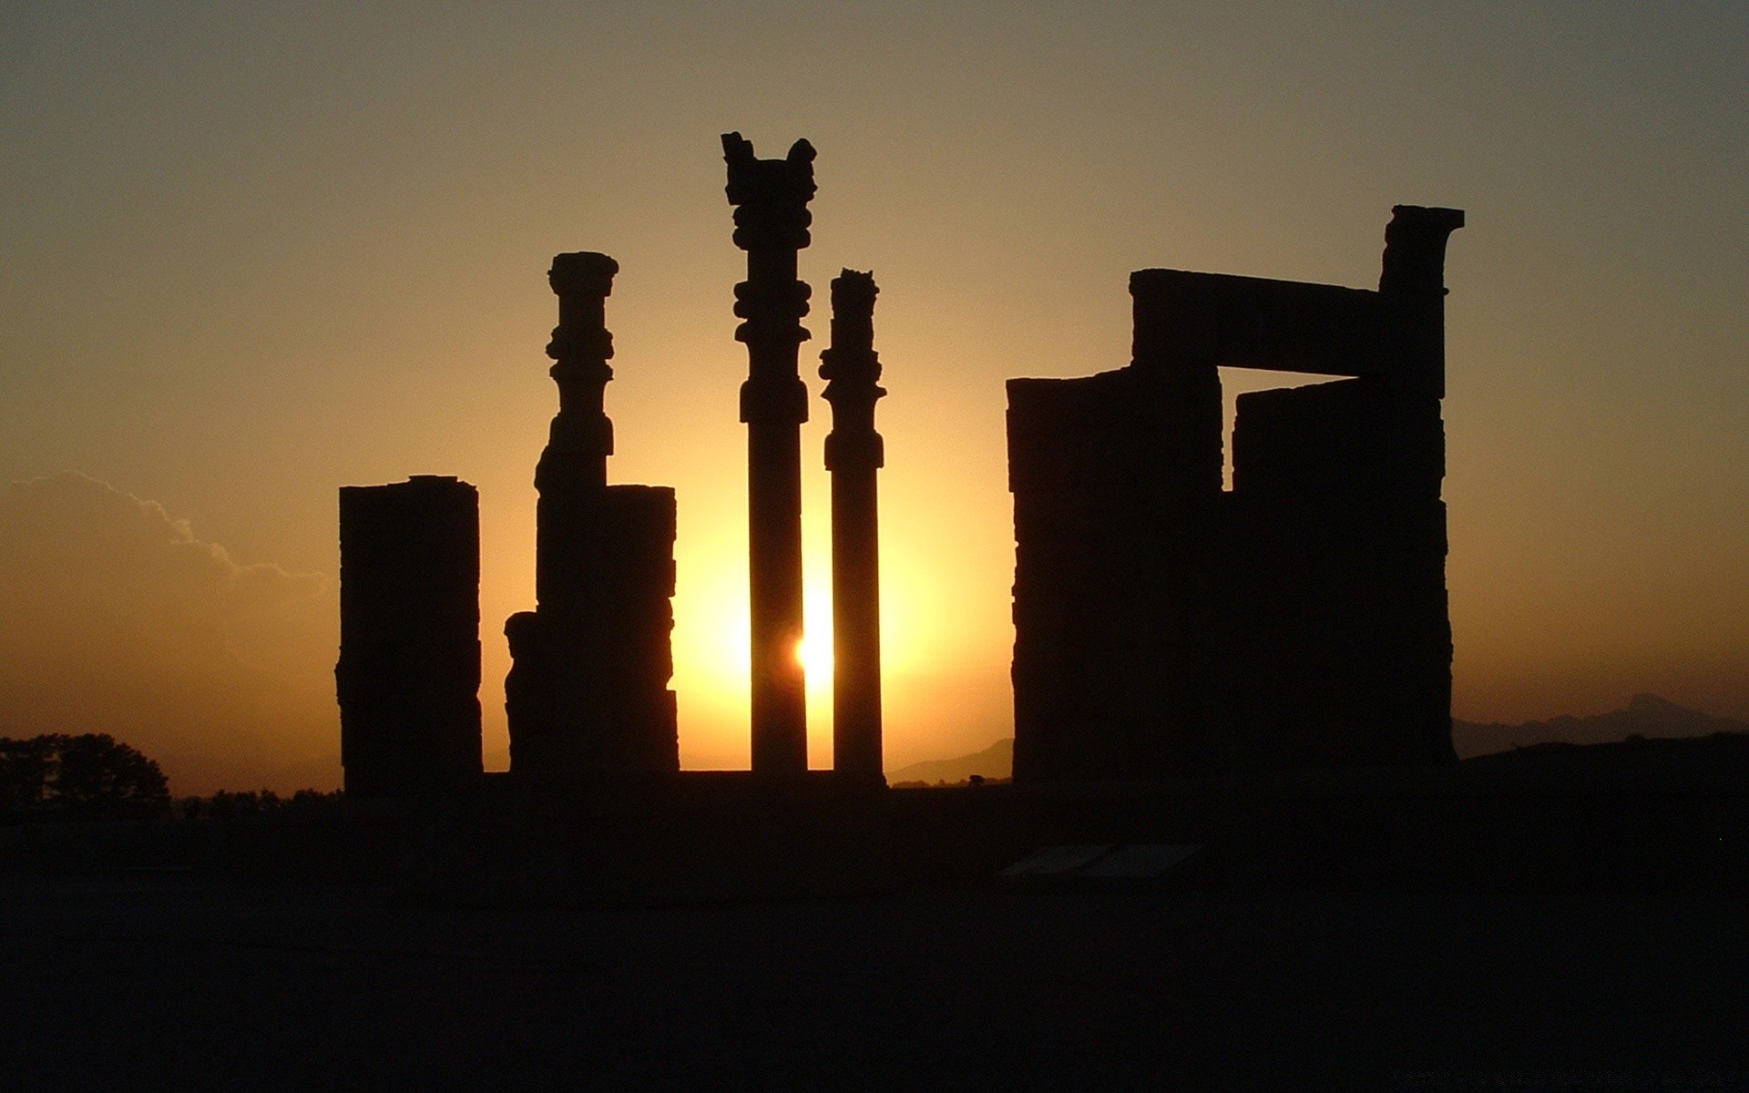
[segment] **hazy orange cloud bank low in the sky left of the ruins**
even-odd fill
[[[0,497],[0,733],[110,733],[177,792],[338,752],[334,589],[63,472]]]

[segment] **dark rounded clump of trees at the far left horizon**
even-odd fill
[[[170,810],[170,783],[112,736],[0,738],[0,804],[10,818],[154,817]]]

